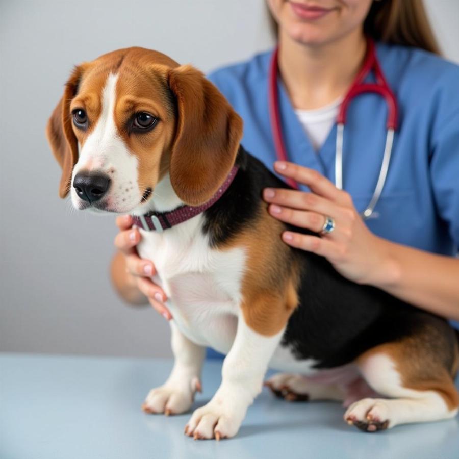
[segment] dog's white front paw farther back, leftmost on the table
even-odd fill
[[[166,382],[161,387],[151,389],[142,404],[145,413],[159,414],[166,416],[185,413],[193,403],[195,392],[201,392],[201,385],[197,378],[190,381],[190,384],[179,384]]]

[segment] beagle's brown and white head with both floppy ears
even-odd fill
[[[234,164],[242,121],[198,70],[126,48],[75,67],[46,133],[61,197],[138,213],[162,182],[189,205],[209,200]]]

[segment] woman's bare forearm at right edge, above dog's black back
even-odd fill
[[[459,259],[379,240],[384,275],[371,284],[415,306],[459,320]]]

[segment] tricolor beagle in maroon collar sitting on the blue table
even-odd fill
[[[279,235],[302,231],[267,212],[287,188],[240,145],[242,121],[191,66],[119,49],[73,70],[47,125],[75,209],[136,216],[142,258],[172,312],[175,363],[147,413],[190,409],[205,348],[226,354],[195,439],[233,437],[267,385],[288,400],[340,400],[373,432],[456,415],[457,339],[440,317],[369,286]]]

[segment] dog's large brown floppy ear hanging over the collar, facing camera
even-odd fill
[[[197,206],[208,201],[230,173],[242,137],[242,119],[195,68],[170,69],[168,79],[177,101],[170,181],[180,199]]]

